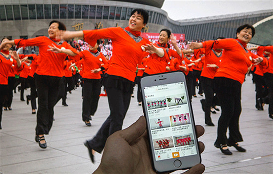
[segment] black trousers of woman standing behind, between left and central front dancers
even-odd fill
[[[82,85],[82,120],[89,121],[90,115],[94,115],[99,102],[101,90],[100,79],[84,79]]]

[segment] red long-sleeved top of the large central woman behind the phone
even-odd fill
[[[121,76],[132,82],[136,77],[136,66],[149,53],[141,49],[142,45],[150,43],[149,40],[138,37],[136,42],[121,27],[110,27],[98,30],[84,30],[84,40],[94,46],[97,39],[108,38],[112,40],[113,55],[106,71],[109,75]]]

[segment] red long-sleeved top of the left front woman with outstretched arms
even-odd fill
[[[54,53],[52,51],[47,51],[48,46],[55,45],[60,49],[69,49],[74,53],[77,53],[77,50],[74,49],[67,42],[61,42],[56,44],[53,40],[48,37],[40,36],[32,39],[15,39],[15,45],[19,47],[23,46],[38,46],[40,59],[37,62],[38,67],[36,69],[36,74],[38,75],[47,75],[47,76],[56,76],[62,77],[63,75],[63,64],[67,57],[67,54],[64,53]]]

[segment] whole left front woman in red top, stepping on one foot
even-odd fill
[[[72,48],[67,42],[56,39],[56,34],[59,30],[66,30],[66,26],[59,21],[51,21],[49,24],[48,35],[40,36],[31,39],[15,39],[2,42],[0,48],[6,44],[23,46],[38,46],[40,59],[35,72],[35,81],[38,94],[38,111],[36,125],[36,142],[39,142],[41,148],[46,148],[44,134],[48,134],[53,123],[53,108],[56,104],[60,80],[63,73],[63,62],[67,57],[64,53],[54,53],[48,51],[48,46],[56,46],[58,48],[67,48],[69,54],[76,55],[76,49]],[[72,51],[73,50],[73,51]]]

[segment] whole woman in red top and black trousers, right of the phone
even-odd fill
[[[262,58],[254,59],[246,49],[247,43],[255,34],[251,25],[243,25],[237,28],[237,39],[222,39],[217,41],[205,41],[203,43],[191,43],[191,49],[214,48],[224,49],[221,64],[214,77],[214,89],[221,105],[221,116],[218,121],[217,139],[214,146],[221,149],[226,155],[232,155],[227,145],[234,146],[238,151],[246,150],[239,146],[243,141],[239,131],[239,117],[241,114],[241,87],[245,74],[251,68],[252,62],[262,62]],[[254,58],[253,58],[254,57]],[[263,63],[263,62],[262,62]],[[229,128],[229,138],[226,136]]]

